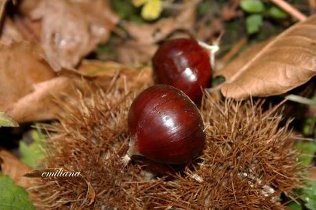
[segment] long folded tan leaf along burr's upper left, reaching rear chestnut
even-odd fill
[[[122,87],[128,80],[135,80],[134,85],[142,86],[151,81],[151,72],[148,67],[133,69],[116,62],[83,60],[78,71],[64,70],[58,77],[34,84],[31,93],[11,104],[7,110],[20,123],[54,119],[60,110],[56,100],[67,100],[69,95],[76,95],[77,90],[107,89],[113,78]]]

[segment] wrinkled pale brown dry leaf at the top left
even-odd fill
[[[31,19],[42,21],[41,44],[55,71],[76,67],[96,45],[108,40],[119,21],[103,0],[42,0],[24,7],[21,10],[31,11]]]

